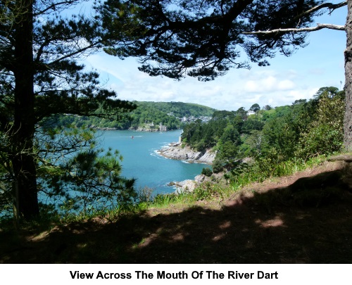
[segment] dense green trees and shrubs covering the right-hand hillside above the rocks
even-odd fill
[[[198,150],[213,147],[217,151],[213,172],[225,168],[230,171],[230,180],[243,183],[246,175],[251,177],[249,181],[288,175],[306,158],[341,151],[343,91],[323,87],[315,99],[268,109],[258,110],[249,118],[244,108],[216,111],[208,123],[194,122],[184,127],[182,138]],[[248,172],[243,171],[242,177],[238,161],[246,157],[255,163]]]

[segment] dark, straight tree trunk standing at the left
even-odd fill
[[[25,219],[39,214],[37,171],[34,160],[34,69],[32,55],[33,0],[18,0],[15,20],[15,107],[12,163],[18,212]],[[17,4],[17,3],[16,3]]]

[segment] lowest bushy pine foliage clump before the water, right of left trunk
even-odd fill
[[[61,165],[63,175],[51,179],[49,188],[69,193],[73,208],[89,209],[127,208],[134,203],[134,179],[120,177],[119,153],[84,151]]]

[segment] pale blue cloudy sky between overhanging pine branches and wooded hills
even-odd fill
[[[338,3],[339,1],[332,1]],[[344,25],[347,7],[332,15],[320,16],[316,23]],[[291,105],[298,99],[312,99],[320,87],[344,87],[344,50],[346,33],[337,30],[310,32],[309,43],[290,57],[277,54],[270,66],[251,63],[251,70],[232,69],[210,82],[186,77],[181,81],[168,77],[150,77],[138,70],[137,58],[120,60],[101,52],[84,63],[101,74],[106,88],[118,98],[129,101],[177,101],[198,103],[218,110],[248,110],[254,103]]]

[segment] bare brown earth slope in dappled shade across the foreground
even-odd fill
[[[336,160],[223,201],[0,230],[0,263],[351,263],[351,159]]]

